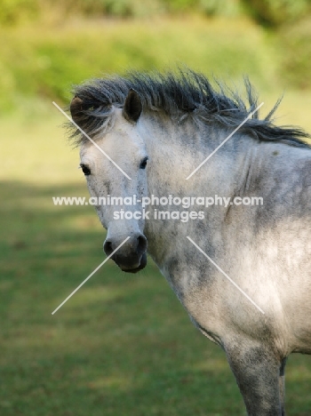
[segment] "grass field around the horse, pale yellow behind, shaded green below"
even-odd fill
[[[177,42],[183,23],[176,26]],[[157,48],[165,42],[165,31],[159,30]],[[185,46],[189,64],[191,44],[195,39],[199,43],[200,30],[201,26]],[[255,42],[257,32],[252,33]],[[78,43],[70,34],[70,42]],[[52,36],[50,40],[52,45],[60,43]],[[145,56],[137,42],[135,51]],[[196,61],[203,53],[197,48]],[[241,48],[239,56],[247,49]],[[168,50],[167,56],[183,59],[181,46],[173,52]],[[157,57],[159,52],[150,49],[150,54]],[[116,69],[127,64],[122,56],[118,55],[121,63],[116,62]],[[207,65],[208,53],[203,56]],[[213,56],[221,62],[220,52]],[[246,58],[241,68],[235,68],[235,76],[245,72],[245,62]],[[134,66],[140,68],[140,61]],[[283,89],[268,91],[262,68],[257,73],[251,66],[250,71],[262,85],[260,97],[267,113]],[[311,131],[310,108],[310,92],[288,91],[277,113],[278,124],[299,124]],[[78,151],[66,143],[63,122],[51,102],[28,98],[0,119],[0,414],[244,415],[223,352],[195,330],[151,260],[135,276],[122,273],[109,261],[51,315],[104,260],[105,232],[92,207],[52,205],[52,196],[87,196],[84,177],[77,170]],[[310,383],[310,357],[291,356],[290,415],[311,414]]]

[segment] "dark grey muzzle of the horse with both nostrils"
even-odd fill
[[[108,256],[122,244],[120,238],[108,237],[104,243],[104,252]],[[127,273],[137,273],[147,265],[147,238],[143,234],[131,236],[110,259],[116,262],[116,265]]]

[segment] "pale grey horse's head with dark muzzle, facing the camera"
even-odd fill
[[[130,237],[111,258],[122,270],[136,273],[147,264],[147,238],[143,234],[141,198],[147,196],[148,192],[148,154],[136,129],[141,112],[137,93],[129,92],[124,108],[116,108],[115,112],[116,120],[112,131],[104,134],[96,143],[131,180],[89,140],[81,147],[80,165],[91,196],[98,198],[100,203],[96,205],[100,222],[108,230],[104,251],[110,255]],[[72,105],[71,113],[74,117]],[[134,202],[135,196],[139,202],[129,204],[131,198]],[[117,205],[111,204],[113,197],[118,198]]]

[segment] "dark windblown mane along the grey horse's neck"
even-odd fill
[[[167,116],[182,123],[191,116],[197,122],[219,124],[234,129],[258,107],[258,97],[247,78],[244,86],[247,95],[245,104],[238,92],[226,84],[216,82],[217,88],[203,74],[190,69],[170,73],[152,74],[130,72],[127,76],[93,79],[76,86],[74,94],[83,104],[79,111],[79,126],[90,136],[108,129],[112,123],[114,108],[122,108],[130,89],[139,93],[144,111],[163,111]],[[281,141],[295,147],[308,147],[303,141],[310,136],[293,126],[276,126],[272,116],[281,100],[264,119],[259,112],[243,124],[242,132],[258,140]],[[71,137],[80,144],[84,135],[71,124]]]

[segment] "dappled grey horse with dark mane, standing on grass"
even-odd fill
[[[259,119],[244,84],[247,100],[189,69],[95,79],[76,87],[72,136],[103,201],[104,251],[132,273],[148,252],[226,353],[248,414],[275,416],[287,357],[311,354],[311,148],[306,132],[273,123],[278,103]],[[185,197],[190,213],[178,204]]]

